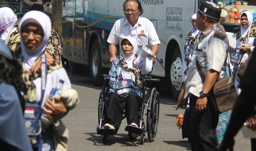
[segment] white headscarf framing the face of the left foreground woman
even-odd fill
[[[45,50],[51,33],[51,20],[45,13],[42,13],[41,11],[32,10],[26,13],[20,21],[20,28],[23,28],[28,23],[39,24],[43,29],[43,37],[39,47],[31,52],[26,50],[23,43],[23,38],[21,36],[20,47],[23,56],[23,68],[26,70],[30,69],[34,65],[37,57],[39,57],[40,54]]]

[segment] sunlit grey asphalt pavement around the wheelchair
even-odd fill
[[[94,86],[85,75],[68,74],[80,98],[77,107],[62,119],[69,130],[68,150],[191,150],[187,138],[182,138],[182,131],[176,126],[175,117],[184,114],[184,109],[176,111],[177,102],[170,96],[170,92],[161,91],[159,128],[153,142],[140,144],[138,140],[129,140],[124,131],[127,126],[124,119],[115,138],[102,143],[101,136],[96,132],[97,104],[102,88]],[[243,138],[241,132],[235,141],[235,150],[250,150],[250,140]]]

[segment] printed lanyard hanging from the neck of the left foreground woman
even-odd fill
[[[45,95],[45,88],[46,88],[46,80],[47,80],[47,65],[46,65],[46,56],[45,54],[41,55],[41,99],[40,99],[40,106],[43,102],[43,96]]]

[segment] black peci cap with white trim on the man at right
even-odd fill
[[[220,19],[221,8],[213,2],[202,2],[198,11],[208,16],[208,18]]]

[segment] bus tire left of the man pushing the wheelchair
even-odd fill
[[[100,44],[98,40],[95,40],[91,47],[90,75],[92,78],[92,83],[94,85],[99,86],[102,84],[101,53],[100,53]]]

